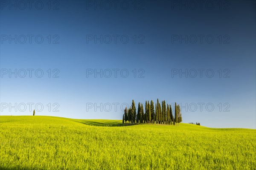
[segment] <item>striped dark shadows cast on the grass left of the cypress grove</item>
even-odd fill
[[[132,124],[132,123],[120,123],[118,121],[107,121],[104,120],[104,122],[97,122],[97,121],[90,121],[90,120],[81,120],[81,121],[75,121],[74,122],[79,122],[85,125],[91,125],[91,126],[105,126],[105,127],[120,127],[120,126],[133,126],[137,124]]]

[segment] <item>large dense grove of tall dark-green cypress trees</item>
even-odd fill
[[[134,100],[130,108],[125,108],[123,114],[123,123],[153,123],[163,125],[179,125],[182,122],[182,114],[180,112],[180,105],[175,102],[175,117],[172,114],[172,106],[167,104],[166,101],[162,101],[162,105],[157,99],[157,103],[153,100],[151,102],[145,101],[145,113],[144,106],[139,102],[136,112],[136,106]]]

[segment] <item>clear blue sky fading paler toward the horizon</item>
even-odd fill
[[[1,0],[1,115],[122,119],[158,98],[256,128],[256,3],[193,2]]]

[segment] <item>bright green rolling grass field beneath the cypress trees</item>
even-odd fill
[[[256,130],[0,116],[3,170],[256,170]]]

